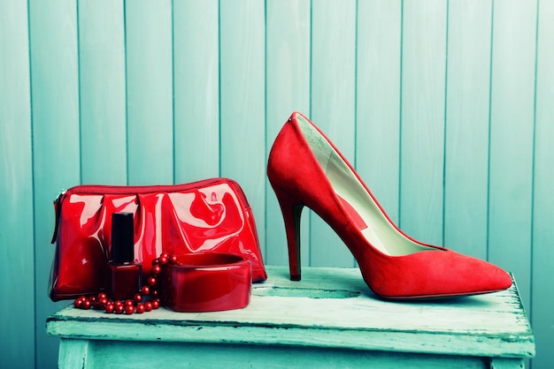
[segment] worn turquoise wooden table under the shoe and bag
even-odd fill
[[[515,283],[489,295],[416,303],[376,298],[358,269],[267,267],[250,305],[218,313],[50,316],[59,367],[519,368],[535,337]]]

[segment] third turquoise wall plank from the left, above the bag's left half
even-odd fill
[[[79,1],[81,180],[127,184],[123,1]]]

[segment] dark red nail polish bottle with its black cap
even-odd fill
[[[141,289],[141,271],[141,264],[135,262],[133,213],[113,213],[110,297],[133,298]]]

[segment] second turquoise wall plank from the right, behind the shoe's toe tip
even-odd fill
[[[495,2],[493,11],[489,260],[515,275],[528,307],[536,3]]]

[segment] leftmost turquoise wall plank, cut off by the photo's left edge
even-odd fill
[[[27,2],[0,1],[0,305],[6,367],[35,365],[33,158]]]

